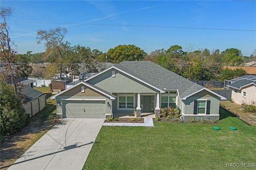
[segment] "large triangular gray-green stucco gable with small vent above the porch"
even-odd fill
[[[112,77],[112,71],[115,71],[115,77]],[[110,93],[159,93],[159,91],[149,85],[114,68],[88,80],[88,83]]]

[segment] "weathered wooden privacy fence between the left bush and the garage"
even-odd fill
[[[36,99],[29,101],[23,105],[23,108],[26,110],[26,113],[33,117],[36,113],[42,111],[46,107],[46,94],[43,94]]]

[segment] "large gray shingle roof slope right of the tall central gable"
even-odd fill
[[[178,89],[181,98],[204,88],[151,61],[122,61],[114,67],[158,89]]]

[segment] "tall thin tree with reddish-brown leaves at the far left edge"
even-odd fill
[[[10,27],[7,24],[7,20],[12,16],[13,8],[1,6],[0,18],[0,61],[2,64],[1,79],[7,83],[8,79],[11,80],[12,87],[15,92],[17,92],[15,84],[15,55],[16,51],[12,48],[15,47],[14,42],[10,39]]]

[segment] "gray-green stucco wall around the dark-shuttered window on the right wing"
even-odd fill
[[[209,93],[208,91],[201,91],[188,97],[184,102],[184,115],[193,115],[194,114],[194,101],[198,99],[210,100],[210,115],[218,115],[220,108],[220,97]]]

